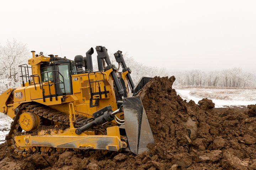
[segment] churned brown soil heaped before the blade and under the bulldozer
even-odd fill
[[[91,157],[65,152],[15,160],[0,145],[1,169],[256,170],[256,105],[213,108],[183,101],[175,77],[155,77],[140,93],[155,144],[149,153],[110,152]],[[213,109],[210,109],[213,108]]]

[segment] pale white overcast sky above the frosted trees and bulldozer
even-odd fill
[[[253,70],[256,1],[0,1],[0,44],[12,38],[70,59],[102,45],[171,70]]]

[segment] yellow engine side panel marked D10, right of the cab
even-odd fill
[[[89,105],[90,98],[91,98],[89,79],[90,81],[104,80],[103,74],[100,72],[91,73],[89,78],[88,78],[88,73],[72,75],[73,92],[74,92],[74,95],[79,100],[79,102],[74,103],[76,112],[78,114],[86,114],[87,117],[92,117],[92,113],[108,105],[111,105],[113,110],[117,109],[116,97],[114,94],[114,87],[113,87],[113,80],[111,77],[112,71],[113,70],[110,69],[110,70],[107,70],[106,72],[102,72],[104,74],[106,91],[109,91],[109,93],[107,94],[107,97],[105,97],[105,94],[102,94],[101,96],[99,94],[95,94],[92,96],[93,99],[98,99],[99,105],[96,107],[90,107]],[[79,77],[79,79],[76,79],[77,77]],[[91,83],[92,92],[99,92],[99,88],[98,88],[99,85],[100,85],[101,92],[103,92],[104,91],[103,81],[99,81],[99,83],[97,82]],[[78,88],[80,89],[78,90]],[[93,102],[94,102],[93,104],[95,104],[95,100],[93,100]]]

